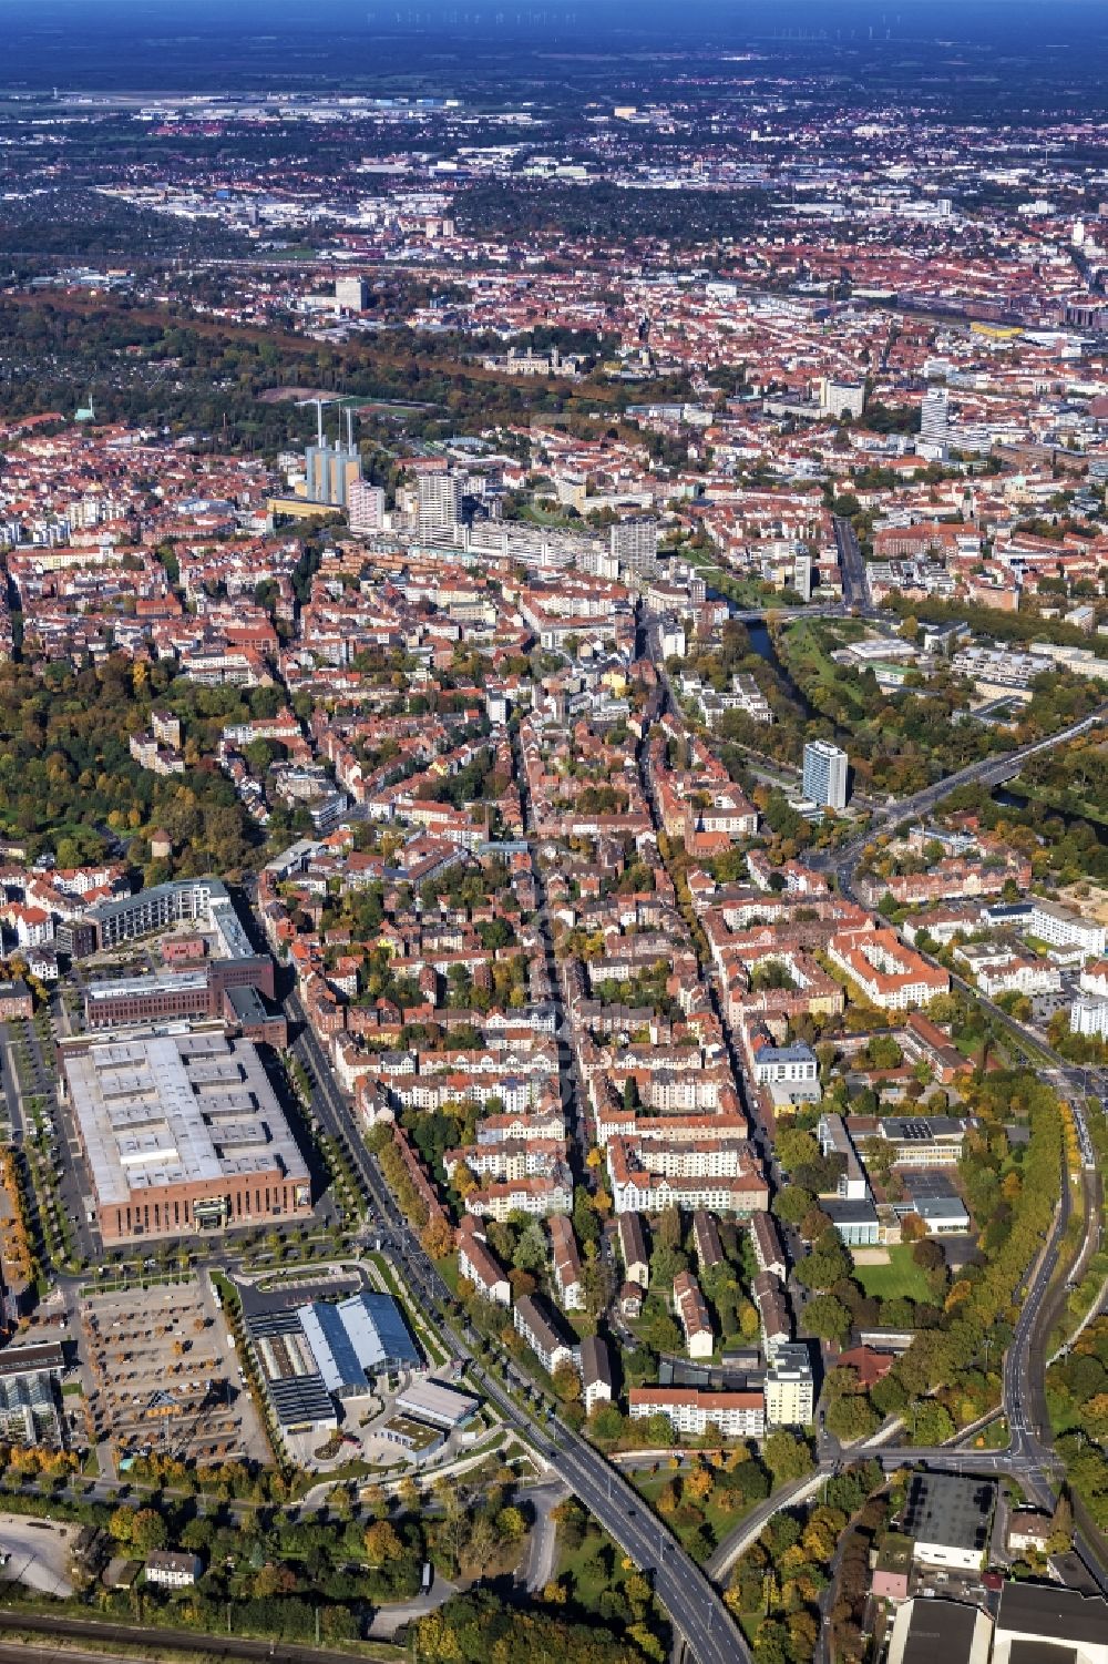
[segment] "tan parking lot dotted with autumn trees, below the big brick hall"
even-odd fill
[[[116,1461],[270,1459],[206,1278],[95,1295],[82,1325],[95,1438],[111,1441]]]

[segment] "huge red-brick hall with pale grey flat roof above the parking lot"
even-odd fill
[[[309,1211],[308,1166],[248,1040],[128,1030],[60,1055],[105,1240]]]

